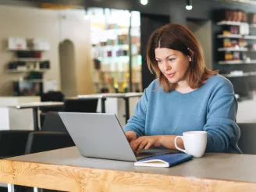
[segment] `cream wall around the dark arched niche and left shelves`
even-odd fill
[[[0,95],[12,95],[12,80],[21,73],[6,73],[6,64],[14,58],[7,52],[8,37],[41,37],[51,44],[51,51],[43,58],[51,61],[51,69],[44,80],[57,80],[59,88],[59,43],[66,39],[75,46],[77,94],[93,93],[91,78],[90,23],[84,20],[84,10],[48,10],[37,8],[0,6]]]

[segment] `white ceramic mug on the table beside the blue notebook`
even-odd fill
[[[176,144],[176,140],[179,137],[183,140],[185,150],[179,148]],[[206,131],[187,131],[183,133],[183,136],[175,137],[174,144],[176,149],[193,155],[195,158],[201,158],[204,155],[207,144],[207,133]]]

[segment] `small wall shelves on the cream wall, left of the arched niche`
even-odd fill
[[[41,39],[8,39],[6,51],[12,52],[13,57],[7,63],[5,73],[16,76],[12,81],[14,95],[39,95],[43,92],[44,73],[50,69],[50,61],[43,58],[43,52],[48,52],[49,47],[48,41]]]

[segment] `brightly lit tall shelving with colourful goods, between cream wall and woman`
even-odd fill
[[[140,12],[91,8],[87,14],[94,92],[142,91]]]

